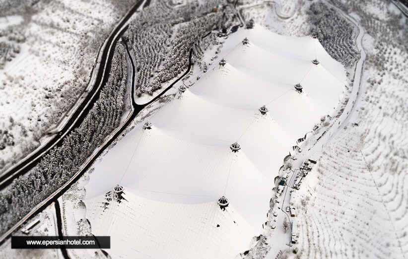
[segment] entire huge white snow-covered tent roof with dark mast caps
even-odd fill
[[[318,41],[256,25],[227,42],[219,55],[226,65],[214,61],[148,118],[151,129],[130,131],[91,174],[86,217],[92,234],[111,236],[113,258],[234,258],[249,250],[283,158],[337,106],[344,69]],[[116,185],[124,187],[119,198]],[[216,202],[223,195],[225,210]]]

